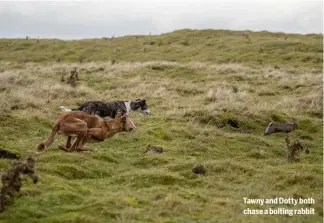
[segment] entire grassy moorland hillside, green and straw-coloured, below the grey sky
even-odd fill
[[[189,46],[175,42],[182,33],[188,34]],[[284,40],[283,34],[281,39],[274,33],[249,35],[264,43],[284,44],[296,38],[298,44],[313,50],[282,60],[289,47],[274,47],[272,53],[264,53],[269,60],[255,66],[253,58],[263,54],[247,50],[244,42],[242,48],[230,44],[244,40],[239,32],[183,30],[115,38],[109,43],[0,40],[2,50],[25,44],[21,50],[0,53],[0,148],[36,157],[40,177],[38,184],[23,187],[25,195],[0,214],[0,222],[322,222],[322,53],[315,52],[322,49],[322,36],[288,35]],[[223,44],[228,41],[230,50],[212,54],[221,46],[219,38]],[[143,40],[152,39],[172,43],[143,45]],[[206,47],[205,40],[215,43],[215,48]],[[42,44],[46,48],[40,50]],[[93,48],[96,44],[100,47]],[[121,47],[118,54],[108,50],[117,46]],[[144,47],[148,51],[136,53]],[[164,51],[168,48],[172,49],[169,53]],[[86,50],[90,53],[86,62],[68,62]],[[246,60],[217,63],[226,62],[225,54],[231,50]],[[63,58],[65,63],[49,56],[69,51],[73,53]],[[299,60],[307,54],[311,60]],[[104,61],[112,55],[118,55],[114,57],[118,63]],[[314,62],[316,57],[319,61]],[[46,63],[20,58],[44,58],[39,61]],[[75,66],[80,81],[72,88],[60,78],[63,70]],[[61,113],[60,105],[137,98],[147,100],[152,114],[131,114],[135,132],[89,144],[98,148],[93,153],[57,150],[65,140],[59,137],[52,149],[35,155],[36,144],[49,135]],[[18,109],[12,110],[14,106]],[[240,128],[224,126],[229,119]],[[302,152],[298,163],[287,162],[283,134],[262,136],[270,121],[292,120],[299,129],[290,133],[291,140],[300,139],[311,151]],[[161,146],[165,152],[144,154],[148,144]],[[0,171],[10,163],[0,160]],[[192,173],[198,164],[205,166],[205,175]],[[260,208],[244,204],[243,197],[312,197],[316,203],[309,206],[261,208],[308,207],[315,208],[315,215],[243,215],[246,208]]]

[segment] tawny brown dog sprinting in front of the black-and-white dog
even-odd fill
[[[56,120],[51,135],[36,146],[36,153],[50,147],[56,134],[68,136],[66,147],[60,146],[60,149],[68,152],[86,151],[91,150],[83,148],[89,139],[104,141],[118,132],[129,132],[134,128],[135,126],[127,114],[122,115],[121,112],[116,115],[115,119],[108,121],[82,111],[64,112]],[[71,146],[72,137],[76,137],[76,140]]]

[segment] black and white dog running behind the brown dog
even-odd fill
[[[137,99],[135,101],[113,101],[113,102],[102,102],[102,101],[89,101],[82,104],[79,108],[65,108],[60,106],[61,110],[67,111],[84,111],[90,115],[98,115],[105,119],[115,118],[118,111],[124,113],[130,113],[137,111],[141,108],[144,114],[150,114],[150,110],[147,108],[145,100]]]

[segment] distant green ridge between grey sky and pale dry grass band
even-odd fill
[[[243,35],[244,33],[244,35]],[[180,61],[322,70],[323,35],[178,30],[108,39],[1,39],[0,60],[19,62]]]

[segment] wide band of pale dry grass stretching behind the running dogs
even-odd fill
[[[6,64],[6,66],[13,66]],[[58,72],[78,67],[83,84],[76,89],[59,82]],[[188,68],[206,81],[173,81],[167,75],[152,76],[152,67],[159,67],[168,74],[169,69]],[[28,71],[29,75],[26,71]],[[46,78],[47,77],[47,78]],[[48,79],[51,77],[51,79]],[[118,83],[119,86],[99,92],[85,86],[89,78],[102,83]],[[239,79],[236,83],[233,78]],[[75,104],[82,100],[104,98],[147,97],[160,101],[161,109],[169,108],[168,115],[183,110],[206,109],[215,114],[219,111],[237,111],[256,114],[270,110],[288,113],[322,112],[322,75],[320,73],[298,73],[297,71],[255,70],[239,64],[210,65],[192,62],[121,62],[83,64],[39,64],[26,63],[22,69],[4,71],[0,76],[1,109],[16,104],[46,109],[54,103]],[[311,90],[310,90],[311,88]],[[134,96],[132,96],[134,95]],[[187,103],[190,98],[190,103]],[[9,99],[9,100],[8,100]],[[168,100],[165,100],[168,99]],[[53,104],[53,107],[55,107]],[[180,105],[180,106],[179,106]],[[158,105],[159,106],[159,105]],[[52,107],[51,107],[52,108]],[[170,112],[171,110],[171,112]]]

